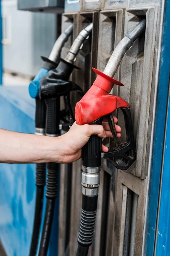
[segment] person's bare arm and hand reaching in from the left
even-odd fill
[[[92,134],[111,137],[109,130],[107,122],[103,126],[74,123],[66,134],[59,137],[0,129],[0,163],[70,163],[81,157],[81,148]],[[116,131],[120,137],[121,128],[118,125]],[[107,152],[108,148],[102,146],[102,150]]]

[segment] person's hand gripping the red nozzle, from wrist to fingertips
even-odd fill
[[[114,123],[118,120],[115,116]],[[121,137],[121,128],[119,125],[115,125],[117,137]],[[96,134],[101,138],[113,137],[109,124],[105,119],[102,125],[77,125],[76,122],[72,125],[70,130],[57,138],[61,144],[61,162],[71,163],[78,160],[82,154],[82,147],[88,142],[91,135]],[[102,151],[107,152],[108,148],[102,145]]]

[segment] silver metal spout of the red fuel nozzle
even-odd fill
[[[113,77],[118,69],[123,56],[127,50],[132,46],[133,42],[143,34],[146,27],[146,19],[143,19],[139,24],[132,30],[128,35],[126,35],[116,46],[108,64],[105,67],[104,74]]]

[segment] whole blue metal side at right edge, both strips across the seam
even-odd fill
[[[154,130],[153,162],[151,169],[149,189],[149,211],[147,227],[147,248],[144,255],[152,256],[156,250],[156,256],[170,255],[170,107],[166,124],[166,112],[168,107],[168,89],[170,79],[170,1],[165,1],[164,23],[162,34],[161,63],[159,72],[159,93],[157,97],[156,122]],[[166,128],[167,125],[167,128]],[[167,133],[165,134],[165,130]],[[164,134],[166,135],[165,148]],[[161,166],[164,161],[163,179],[161,180]],[[159,189],[161,188],[161,204],[159,212]],[[159,228],[157,221],[159,218]],[[164,236],[164,237],[163,237]],[[169,243],[169,244],[168,244]],[[169,249],[166,249],[169,248]]]

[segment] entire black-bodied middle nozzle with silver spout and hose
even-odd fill
[[[56,69],[51,70],[41,80],[40,84],[33,87],[34,97],[40,97],[41,100],[45,100],[46,104],[46,124],[45,134],[48,136],[56,137],[59,135],[59,128],[69,128],[70,122],[65,122],[65,116],[60,111],[60,97],[65,96],[65,102],[68,103],[70,115],[72,121],[74,116],[69,104],[69,93],[71,91],[77,91],[83,96],[82,89],[74,82],[68,81],[74,68],[74,61],[79,50],[82,49],[83,42],[89,38],[92,31],[93,24],[90,23],[85,29],[79,33],[77,38],[74,40],[66,58],[63,60],[59,58],[60,62]],[[65,111],[64,111],[65,112]],[[61,123],[60,123],[61,121]],[[58,183],[58,163],[47,164],[47,183],[46,183],[46,209],[45,218],[42,229],[42,236],[40,241],[39,256],[45,256],[48,251],[48,244],[51,234],[51,226],[54,214],[55,198],[57,198],[57,183]]]

